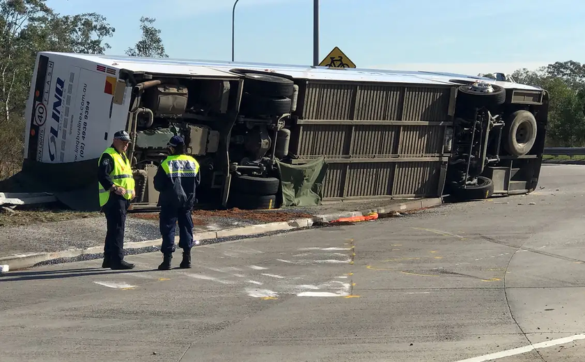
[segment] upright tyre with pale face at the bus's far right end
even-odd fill
[[[526,155],[536,141],[537,129],[536,118],[529,111],[515,111],[510,114],[504,125],[504,149],[510,155]]]

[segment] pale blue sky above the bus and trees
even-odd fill
[[[58,13],[97,12],[116,28],[107,54],[155,17],[171,58],[229,61],[234,0],[47,0]],[[585,1],[320,0],[320,54],[340,47],[358,68],[477,74],[585,62]],[[311,65],[313,0],[240,0],[235,61]]]

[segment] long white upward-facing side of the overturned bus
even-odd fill
[[[477,81],[497,84],[504,88],[520,88],[540,90],[533,86],[496,81],[495,79],[476,77],[466,74],[448,72],[424,72],[411,70],[382,70],[366,68],[327,68],[310,65],[283,65],[272,63],[247,63],[231,61],[197,61],[178,58],[142,58],[136,56],[115,56],[98,54],[75,54],[40,52],[41,54],[56,54],[79,58],[96,64],[107,65],[111,68],[126,69],[132,72],[152,72],[171,74],[198,74],[205,76],[241,77],[231,72],[233,69],[273,71],[286,74],[295,79],[324,80],[324,81],[365,81],[380,83],[428,84],[428,85],[457,85],[456,81]]]

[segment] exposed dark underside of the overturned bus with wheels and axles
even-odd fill
[[[302,165],[320,159],[327,164],[318,187],[325,200],[468,200],[530,192],[538,182],[545,91],[231,72],[242,77],[120,72],[133,86],[127,130],[135,205],[157,203],[152,180],[173,134],[185,137],[201,164],[201,204],[279,207],[277,165],[299,167],[302,180]]]

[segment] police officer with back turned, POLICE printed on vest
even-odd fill
[[[171,269],[171,259],[175,251],[175,224],[179,223],[179,247],[183,249],[180,268],[191,267],[191,248],[193,246],[193,219],[191,211],[196,203],[195,189],[201,182],[199,164],[191,156],[185,155],[185,141],[181,136],[173,136],[169,143],[169,157],[160,164],[153,180],[155,189],[160,192],[160,233],[162,234],[163,261],[159,270]]]

